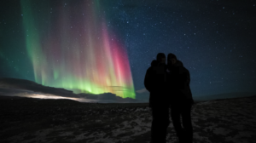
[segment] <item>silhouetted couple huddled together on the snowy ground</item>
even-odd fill
[[[157,54],[148,68],[144,85],[150,92],[149,106],[152,110],[151,142],[166,143],[169,126],[169,109],[174,129],[180,143],[192,143],[193,128],[191,106],[194,103],[189,88],[189,71],[177,60],[175,54]],[[182,123],[181,123],[182,118]]]

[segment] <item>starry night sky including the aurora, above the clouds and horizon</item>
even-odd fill
[[[3,0],[0,77],[135,98],[162,52],[194,96],[256,92],[255,39],[253,0]]]

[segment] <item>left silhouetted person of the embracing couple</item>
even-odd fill
[[[144,78],[145,88],[149,91],[149,107],[152,111],[151,143],[166,143],[169,121],[167,94],[166,54],[157,54]]]

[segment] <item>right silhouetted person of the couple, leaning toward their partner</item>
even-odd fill
[[[170,95],[172,123],[178,140],[180,143],[192,143],[193,127],[190,112],[194,100],[189,88],[189,71],[172,53],[167,56],[167,81],[170,89],[168,94]],[[182,117],[182,124],[180,117]]]

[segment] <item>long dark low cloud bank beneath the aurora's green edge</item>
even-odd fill
[[[19,90],[20,89],[20,90]],[[112,93],[103,93],[103,94],[74,94],[73,91],[67,89],[53,88],[44,86],[26,79],[17,79],[17,78],[1,78],[0,79],[0,95],[1,93],[6,93],[12,96],[19,96],[19,93],[24,91],[21,90],[29,90],[36,93],[42,94],[53,94],[61,97],[72,97],[78,98],[81,102],[104,102],[104,103],[132,103],[132,102],[140,102],[139,100],[131,99],[131,98],[121,98],[116,94]],[[33,93],[27,93],[33,94]],[[34,95],[35,98],[37,95]]]

